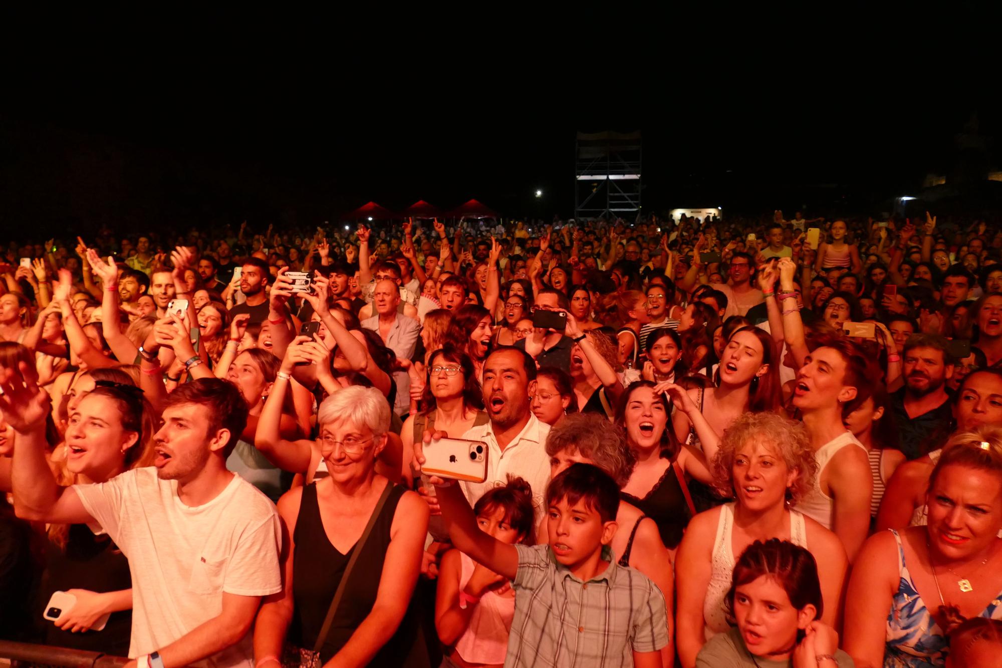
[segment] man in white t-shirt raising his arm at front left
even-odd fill
[[[262,597],[282,590],[282,535],[272,502],[225,467],[246,423],[239,390],[216,378],[181,385],[167,396],[153,466],[71,487],[45,461],[46,392],[9,371],[2,390],[18,434],[18,516],[87,524],[128,558],[134,666],[253,667],[247,631]]]

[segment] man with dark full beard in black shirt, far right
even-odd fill
[[[905,386],[892,406],[898,426],[898,448],[909,459],[927,452],[929,437],[953,419],[946,381],[953,376],[949,344],[937,334],[913,334],[905,342]]]

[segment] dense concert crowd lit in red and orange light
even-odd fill
[[[1002,229],[258,232],[6,247],[0,637],[139,668],[1002,665]],[[485,479],[423,470],[443,438]]]

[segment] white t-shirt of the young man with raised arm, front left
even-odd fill
[[[152,466],[100,484],[73,485],[87,513],[128,558],[129,657],[155,652],[222,612],[222,593],[282,591],[279,514],[239,475],[212,500],[189,508],[176,480]],[[254,666],[252,634],[194,665]]]

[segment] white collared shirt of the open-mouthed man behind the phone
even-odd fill
[[[546,496],[546,485],[550,481],[550,457],[546,454],[546,436],[550,433],[550,425],[529,413],[529,421],[508,446],[501,449],[494,436],[494,423],[488,422],[470,427],[463,438],[482,440],[487,443],[487,480],[484,482],[460,482],[466,499],[470,506],[488,489],[500,487],[508,482],[508,475],[524,479],[532,487],[532,506],[536,510],[536,522],[543,515],[543,498]]]

